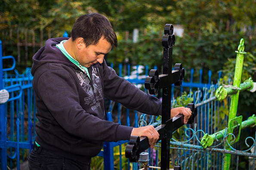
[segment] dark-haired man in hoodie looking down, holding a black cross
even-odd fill
[[[105,100],[152,115],[161,114],[161,101],[116,75],[104,55],[117,47],[108,19],[87,14],[77,19],[71,38],[49,39],[33,57],[31,73],[36,98],[37,137],[29,156],[30,170],[89,170],[103,141],[146,136],[154,147],[159,134],[153,126],[133,128],[106,121]],[[191,111],[172,109],[171,116]]]

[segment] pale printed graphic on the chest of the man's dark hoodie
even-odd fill
[[[80,85],[84,91],[89,94],[88,97],[84,98],[84,104],[89,105],[92,110],[96,110],[100,106],[100,101],[103,100],[103,90],[101,80],[99,78],[99,72],[97,68],[92,68],[92,84],[87,75],[83,72],[76,72],[77,78],[80,80]]]

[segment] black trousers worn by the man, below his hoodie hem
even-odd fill
[[[90,161],[80,162],[34,147],[28,158],[29,170],[90,170]]]

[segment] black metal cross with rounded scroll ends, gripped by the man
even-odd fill
[[[163,74],[159,75],[157,70],[150,70],[149,77],[145,79],[145,88],[149,93],[156,95],[159,89],[162,91],[162,124],[156,130],[160,134],[161,140],[161,170],[169,170],[170,168],[170,139],[173,132],[180,128],[183,123],[183,115],[179,114],[172,119],[170,118],[171,110],[171,90],[172,84],[181,86],[185,76],[185,70],[182,64],[175,64],[172,71],[173,46],[175,44],[175,36],[173,34],[173,25],[166,24],[164,27],[164,35],[162,37],[163,45]],[[188,120],[188,124],[194,123],[197,115],[197,109],[194,104],[188,104],[188,108],[192,111],[192,116]],[[159,141],[158,140],[158,141]],[[125,156],[131,162],[138,162],[139,154],[150,147],[147,137],[131,136],[130,144],[126,146]]]

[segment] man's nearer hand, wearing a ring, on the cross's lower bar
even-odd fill
[[[157,140],[159,139],[159,134],[152,125],[134,128],[131,135],[148,137],[148,142],[151,148],[154,148]]]

